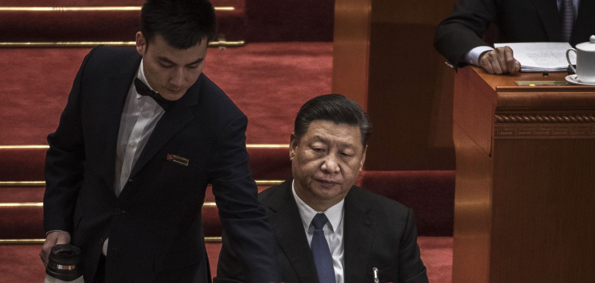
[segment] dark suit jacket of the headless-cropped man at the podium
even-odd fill
[[[469,50],[487,45],[481,36],[496,23],[496,42],[561,42],[556,0],[459,0],[434,37],[434,46],[448,61],[466,65]],[[595,34],[595,1],[580,0],[571,45]]]

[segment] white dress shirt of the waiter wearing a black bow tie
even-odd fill
[[[136,77],[145,83],[151,90],[153,88],[146,80],[143,62],[140,61]],[[155,125],[164,114],[165,110],[159,106],[155,99],[142,96],[136,92],[134,81],[130,84],[124,111],[120,118],[120,131],[115,158],[114,193],[120,196],[124,185],[130,177],[130,172],[140,156],[145,144],[149,140]],[[108,240],[105,240],[103,254],[107,255]]]

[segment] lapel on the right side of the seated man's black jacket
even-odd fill
[[[371,207],[358,196],[359,192],[351,188],[345,197],[345,215],[343,220],[343,247],[345,283],[364,282],[369,252],[375,232],[375,219],[367,213]],[[372,281],[369,278],[368,281]]]

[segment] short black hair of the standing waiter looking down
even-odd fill
[[[188,49],[215,37],[215,9],[207,0],[147,0],[140,10],[140,32],[148,44],[161,34],[170,46]]]

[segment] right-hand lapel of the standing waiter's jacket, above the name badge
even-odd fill
[[[140,153],[139,159],[134,164],[130,177],[139,172],[167,141],[194,119],[190,107],[198,103],[199,89],[201,88],[199,82],[202,76],[204,75],[201,74],[201,77],[184,93],[184,96],[177,100],[172,108],[165,111],[161,119],[159,119],[153,133],[151,133],[151,137],[149,137],[143,151]]]

